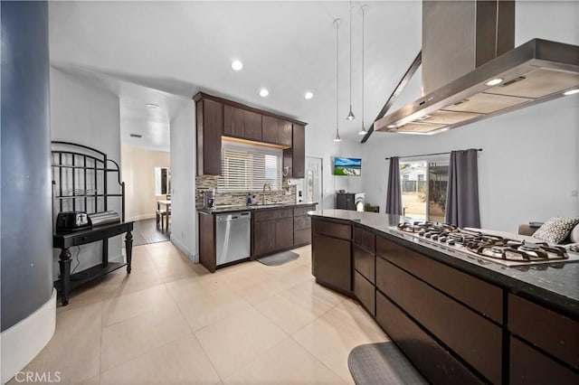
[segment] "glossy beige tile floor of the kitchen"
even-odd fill
[[[348,352],[387,336],[314,282],[309,247],[295,251],[280,267],[209,274],[170,242],[138,246],[130,276],[57,308],[56,333],[24,371],[60,371],[67,384],[352,383]]]

